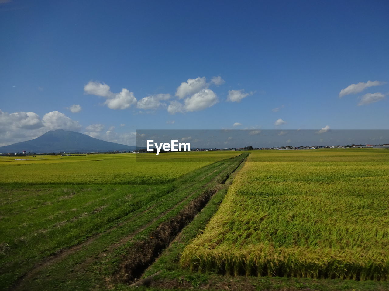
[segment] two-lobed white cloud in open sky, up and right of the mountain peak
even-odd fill
[[[134,94],[126,88],[122,88],[120,93],[112,93],[110,87],[105,83],[90,81],[85,85],[84,91],[86,94],[92,94],[107,98],[104,104],[110,109],[126,109],[137,103]]]

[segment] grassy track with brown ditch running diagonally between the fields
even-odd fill
[[[194,225],[191,222],[198,220],[203,210],[209,209],[210,204],[217,207],[215,201],[223,200],[234,173],[247,156],[240,154],[189,173],[162,200],[145,205],[85,241],[43,258],[7,289],[42,291],[58,286],[63,290],[85,286],[84,289],[97,290],[114,288],[116,284],[130,286],[156,265],[161,254],[177,241],[183,229]]]

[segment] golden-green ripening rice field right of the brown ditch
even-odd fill
[[[389,150],[252,152],[181,264],[200,272],[389,277]]]

